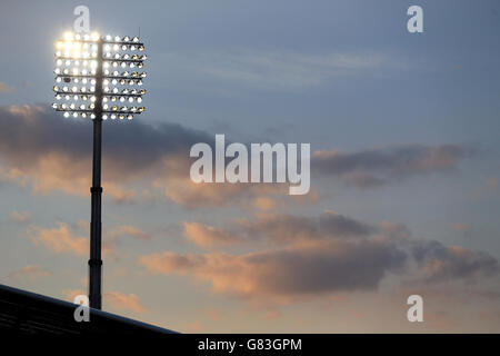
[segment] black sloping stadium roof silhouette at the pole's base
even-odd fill
[[[21,335],[161,335],[176,332],[90,308],[77,323],[78,305],[0,285],[0,332]]]

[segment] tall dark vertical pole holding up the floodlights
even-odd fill
[[[93,119],[93,157],[92,157],[92,187],[91,219],[90,219],[90,259],[89,259],[89,303],[94,309],[102,308],[102,259],[101,259],[101,144],[102,144],[102,39],[98,41],[98,56],[96,68],[96,106]]]

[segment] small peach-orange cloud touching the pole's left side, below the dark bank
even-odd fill
[[[74,236],[68,225],[63,222],[58,222],[58,228],[51,229],[32,226],[29,233],[33,244],[42,245],[57,254],[69,253],[84,256],[89,253],[89,239]]]

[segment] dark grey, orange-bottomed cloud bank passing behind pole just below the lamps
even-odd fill
[[[116,202],[163,197],[196,208],[288,195],[288,185],[192,182],[191,146],[213,141],[202,131],[174,123],[153,127],[141,120],[107,121],[103,136],[102,186]],[[36,192],[59,190],[88,197],[91,144],[89,121],[66,120],[46,107],[0,107],[3,180],[31,186]],[[140,185],[146,188],[138,189]]]

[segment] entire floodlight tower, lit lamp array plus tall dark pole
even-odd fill
[[[146,55],[144,44],[138,37],[101,37],[99,33],[74,34],[66,32],[63,40],[56,42],[56,111],[64,117],[90,118],[93,122],[93,156],[89,301],[90,307],[101,309],[101,142],[102,121],[131,120],[144,111],[142,96],[146,95],[142,79]],[[129,71],[130,70],[130,71]]]

